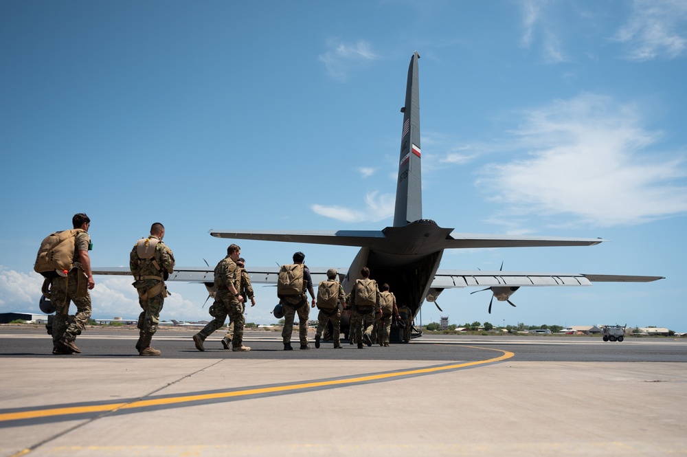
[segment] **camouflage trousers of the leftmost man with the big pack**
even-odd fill
[[[76,304],[74,322],[69,324],[69,302]],[[88,291],[86,275],[80,269],[73,269],[67,278],[55,278],[50,287],[50,302],[55,306],[52,322],[52,340],[76,339],[91,317],[91,294]]]

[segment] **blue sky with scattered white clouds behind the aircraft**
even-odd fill
[[[687,2],[658,0],[0,2],[0,311],[38,311],[38,244],[76,212],[98,267],[128,265],[155,221],[186,267],[223,258],[210,229],[392,225],[416,50],[425,218],[610,241],[442,268],[666,276],[523,288],[491,315],[453,289],[423,322],[687,331]],[[357,252],[238,244],[249,269]],[[130,278],[95,280],[94,317],[139,313]],[[247,321],[275,322],[256,289]],[[203,287],[170,290],[163,319],[208,317]]]

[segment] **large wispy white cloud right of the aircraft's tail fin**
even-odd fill
[[[513,131],[527,157],[485,166],[477,184],[513,214],[572,214],[592,226],[684,214],[685,155],[651,150],[661,134],[639,112],[592,93],[529,111]]]

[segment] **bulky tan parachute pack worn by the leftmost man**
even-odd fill
[[[46,236],[41,241],[41,247],[36,255],[34,271],[45,278],[67,276],[74,268],[74,247],[76,235],[84,232],[82,229],[63,230]]]

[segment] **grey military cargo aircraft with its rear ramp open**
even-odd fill
[[[408,69],[401,153],[398,161],[396,184],[396,208],[394,225],[382,230],[338,231],[237,231],[210,230],[217,238],[286,243],[313,243],[360,247],[348,268],[339,269],[339,280],[346,293],[352,291],[355,280],[360,278],[362,267],[370,268],[370,278],[378,284],[388,283],[399,304],[406,304],[415,316],[423,302],[436,302],[444,291],[456,287],[483,287],[492,293],[493,299],[506,301],[520,287],[589,286],[592,282],[649,282],[661,276],[619,276],[577,273],[534,273],[521,271],[481,271],[439,269],[444,249],[475,249],[482,247],[549,247],[591,246],[602,243],[601,238],[561,238],[536,236],[506,236],[453,232],[451,228],[437,225],[423,216],[421,148],[420,148],[420,95],[418,59],[415,52]],[[331,266],[310,267],[315,285],[326,279]],[[249,269],[251,282],[275,284],[279,267]],[[93,274],[130,274],[126,268],[93,269]],[[214,276],[210,267],[179,269],[170,281],[202,282],[214,296]],[[348,333],[347,320],[342,321],[342,331]]]

